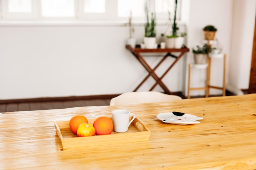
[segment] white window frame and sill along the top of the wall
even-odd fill
[[[177,20],[181,19],[181,2],[178,1],[177,6]],[[148,3],[149,12],[154,11],[155,0],[146,0]],[[41,15],[41,0],[31,0],[32,12],[31,13],[10,13],[8,12],[8,0],[0,0],[0,10],[1,18],[0,21],[9,20],[29,20],[29,21],[78,21],[78,22],[128,22],[128,17],[118,17],[117,16],[117,0],[106,0],[106,13],[84,13],[83,12],[83,0],[74,0],[74,17],[43,17]],[[116,10],[113,10],[116,9]],[[173,15],[173,14],[171,14]],[[158,23],[168,21],[168,14],[166,13],[156,13],[156,20]],[[173,16],[172,16],[173,20]],[[102,22],[103,21],[103,22]],[[132,17],[133,22],[145,22],[144,17]]]

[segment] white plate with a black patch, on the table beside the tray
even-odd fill
[[[159,113],[157,119],[162,120],[164,123],[186,125],[186,124],[199,124],[202,117],[190,115],[181,112],[166,112]]]

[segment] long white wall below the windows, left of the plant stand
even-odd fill
[[[135,36],[140,37],[144,26],[136,26],[135,30]],[[128,35],[128,27],[115,25],[1,26],[0,98],[132,91],[147,72],[125,48]],[[142,37],[138,41],[142,42]],[[156,60],[148,57],[151,64]],[[172,77],[179,80],[181,71]],[[142,90],[150,88],[153,80],[149,82]],[[166,81],[175,91],[180,91],[177,86],[181,83]]]

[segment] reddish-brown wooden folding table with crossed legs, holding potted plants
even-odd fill
[[[135,48],[132,48],[130,45],[126,45],[126,49],[128,49],[137,58],[137,60],[142,64],[142,66],[144,66],[146,71],[148,71],[148,75],[142,80],[142,82],[135,88],[134,91],[137,91],[139,89],[139,87],[142,84],[144,84],[146,79],[148,79],[148,77],[150,77],[150,75],[151,75],[155,79],[156,83],[150,88],[149,91],[152,91],[155,88],[155,86],[157,86],[157,84],[159,84],[159,86],[161,86],[164,89],[165,93],[170,94],[170,95],[173,94],[166,87],[166,85],[162,82],[162,79],[168,73],[168,71],[170,71],[171,68],[180,60],[180,58],[186,52],[189,52],[189,49],[186,46],[184,46],[181,49],[160,49],[159,47],[157,49],[141,49],[139,45],[137,45]],[[158,64],[154,68],[151,68],[150,65],[146,62],[146,60],[144,60],[141,53],[166,53],[166,55],[164,55],[162,57],[162,59],[158,62]],[[173,53],[180,53],[180,55],[176,56]],[[162,64],[162,62],[164,62],[164,60],[168,56],[175,58],[175,60],[173,63],[170,64],[170,66],[166,69],[166,71],[162,74],[162,76],[158,77],[157,74],[155,73],[155,70]]]

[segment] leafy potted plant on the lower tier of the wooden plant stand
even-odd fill
[[[196,46],[197,48],[192,50],[194,54],[195,64],[206,64],[207,55],[211,52],[211,46],[204,44],[203,46]]]

